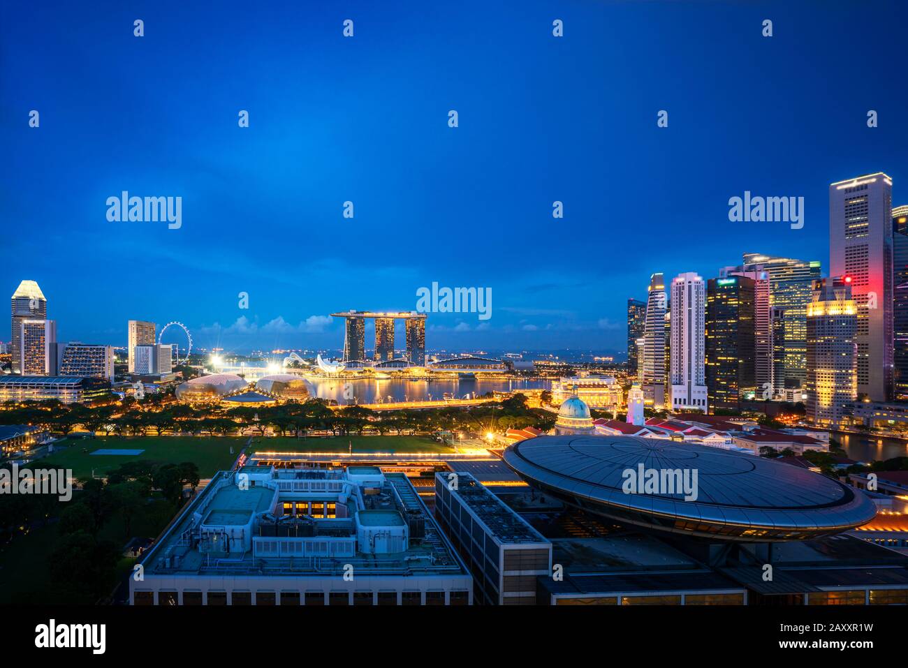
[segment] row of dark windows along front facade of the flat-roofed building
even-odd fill
[[[426,605],[444,605],[445,592],[426,592]],[[158,592],[158,605],[178,605],[179,595],[174,591]],[[255,605],[421,605],[422,592],[256,592]],[[184,591],[183,605],[252,605],[252,592],[208,592],[207,602],[201,591]],[[450,605],[468,605],[469,592],[452,590]],[[135,592],[133,605],[154,605],[154,592]]]

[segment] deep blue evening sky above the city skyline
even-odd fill
[[[908,203],[905,3],[187,5],[0,10],[0,295],[37,280],[62,340],[340,347],[319,317],[435,280],[493,312],[430,315],[429,348],[623,352],[651,272],[825,271],[830,182]],[[108,222],[123,190],[182,196],[182,229]],[[804,229],[729,222],[745,190],[804,196]]]

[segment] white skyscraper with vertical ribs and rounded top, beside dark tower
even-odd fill
[[[696,273],[671,285],[671,408],[706,413],[706,285]]]

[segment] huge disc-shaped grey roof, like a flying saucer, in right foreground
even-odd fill
[[[640,437],[536,437],[508,447],[508,467],[530,485],[626,525],[714,540],[803,540],[838,534],[876,515],[869,496],[789,464],[724,450]],[[628,486],[655,471],[677,487]],[[696,477],[695,476],[696,473]],[[648,486],[649,483],[647,482]]]

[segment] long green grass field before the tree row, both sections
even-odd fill
[[[245,437],[98,437],[67,438],[54,444],[54,454],[38,460],[42,467],[70,468],[75,477],[104,476],[129,461],[151,460],[179,464],[195,462],[200,475],[211,477],[230,468],[248,438]],[[453,450],[431,437],[350,436],[350,437],[273,437],[253,438],[251,452],[432,452]],[[231,454],[230,448],[233,447]],[[143,450],[141,455],[92,455],[100,449]]]

